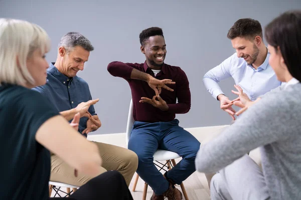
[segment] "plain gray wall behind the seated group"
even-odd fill
[[[230,56],[234,49],[226,34],[242,17],[259,20],[264,27],[289,9],[300,9],[301,0],[0,0],[0,17],[26,19],[44,27],[53,48],[47,55],[55,61],[57,43],[68,31],[79,31],[91,40],[91,52],[84,71],[78,73],[90,85],[102,127],[93,134],[125,132],[130,89],[125,80],[111,76],[107,64],[113,60],[143,62],[138,35],[144,28],[164,30],[168,54],[166,63],[181,66],[190,80],[192,107],[179,114],[183,127],[229,124],[231,117],[206,91],[206,71]],[[231,93],[234,81],[222,81]],[[92,133],[91,133],[92,134]]]

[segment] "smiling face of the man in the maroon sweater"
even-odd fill
[[[141,52],[145,54],[146,63],[150,68],[160,69],[167,53],[164,37],[150,36],[144,46],[141,46]]]

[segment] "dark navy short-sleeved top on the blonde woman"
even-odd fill
[[[0,199],[49,198],[50,153],[35,135],[59,113],[45,100],[22,86],[0,86]]]

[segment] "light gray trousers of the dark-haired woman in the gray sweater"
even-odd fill
[[[265,200],[269,193],[260,167],[244,155],[216,173],[210,183],[211,199]]]

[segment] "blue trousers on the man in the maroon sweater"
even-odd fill
[[[195,170],[195,157],[200,142],[188,131],[179,126],[179,120],[169,122],[146,123],[135,121],[128,141],[128,149],[138,155],[137,173],[153,188],[157,195],[163,194],[169,182],[154,164],[154,153],[157,149],[170,150],[182,156],[167,176],[181,184]]]

